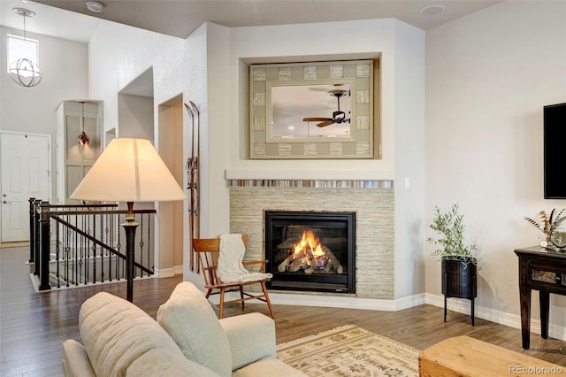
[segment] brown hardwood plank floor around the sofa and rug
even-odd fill
[[[126,297],[126,283],[36,294],[26,264],[28,258],[27,247],[0,249],[0,375],[62,375],[61,343],[69,338],[80,341],[80,304],[101,290]],[[134,304],[156,318],[159,305],[167,300],[179,281],[180,275],[135,281]],[[264,304],[246,304],[245,312],[254,311],[269,315]],[[226,309],[226,317],[241,312],[239,305],[231,305]],[[274,312],[278,343],[354,324],[418,350],[451,336],[470,335],[566,366],[566,342],[544,340],[532,334],[531,350],[523,350],[519,329],[484,319],[476,319],[476,326],[471,327],[469,316],[455,312],[448,312],[444,323],[442,309],[432,305],[400,312],[274,305]]]

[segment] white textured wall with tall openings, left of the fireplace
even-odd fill
[[[203,112],[202,135],[206,134],[208,116],[207,83],[206,83],[206,33],[207,27],[199,27],[186,40],[168,35],[159,35],[135,27],[127,27],[113,22],[103,21],[88,44],[89,96],[104,101],[104,130],[116,128],[120,134],[118,94],[131,81],[153,70],[153,112],[154,112],[154,145],[158,149],[157,140],[159,105],[181,95],[184,102],[193,101]],[[190,117],[183,119],[185,135],[183,150],[188,157],[191,135]],[[129,136],[134,136],[131,130]],[[137,135],[141,137],[142,135]],[[203,142],[206,137],[203,136]],[[205,145],[205,144],[204,144]],[[204,150],[203,152],[206,152]],[[182,185],[187,187],[187,178]],[[206,196],[207,198],[208,196]],[[186,205],[187,203],[185,203]],[[185,212],[187,213],[187,212]],[[204,218],[205,216],[203,216]],[[187,214],[184,224],[187,225]],[[158,235],[157,235],[158,237]],[[158,244],[159,239],[155,240]],[[188,250],[188,235],[183,240],[184,250]],[[184,270],[188,271],[188,262]],[[202,284],[200,276],[195,282]]]

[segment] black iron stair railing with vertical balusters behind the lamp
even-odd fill
[[[126,210],[117,204],[54,205],[30,198],[30,263],[39,290],[126,280]],[[134,277],[154,273],[151,247],[156,211],[135,210]]]

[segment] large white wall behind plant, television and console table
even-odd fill
[[[566,206],[542,191],[542,107],[565,101],[565,2],[504,2],[427,31],[426,221],[434,205],[460,204],[481,249],[476,302],[496,321],[517,325],[513,250],[542,235],[524,216]],[[440,295],[430,251],[426,292]],[[566,297],[551,297],[550,322],[564,338]]]

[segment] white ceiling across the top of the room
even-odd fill
[[[36,16],[27,19],[28,32],[88,42],[100,19],[186,38],[203,22],[225,27],[251,27],[353,19],[401,19],[424,30],[501,3],[499,0],[99,0],[102,13],[87,10],[82,0],[0,0],[0,25],[23,28],[14,7]],[[445,12],[423,16],[438,4]],[[72,11],[72,12],[70,12]],[[94,16],[94,17],[93,17]],[[100,19],[98,19],[100,18]]]

